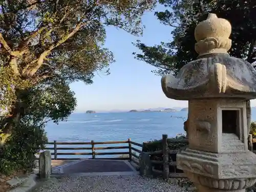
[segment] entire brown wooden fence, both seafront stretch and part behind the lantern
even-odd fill
[[[168,144],[170,143],[185,143],[188,144],[187,139],[179,140],[179,141],[169,141],[167,140],[167,135],[162,135],[162,149],[157,151],[143,152],[150,155],[150,157],[157,156],[161,160],[151,159],[150,162],[152,164],[152,172],[155,174],[161,174],[163,178],[170,177],[185,177],[183,173],[176,173],[176,161],[173,161],[171,156],[175,156],[178,150],[169,150]],[[256,143],[256,139],[253,139],[251,135],[248,137],[248,149],[253,151],[253,143]],[[61,155],[90,155],[92,158],[90,159],[112,159],[112,160],[130,160],[137,169],[140,168],[139,163],[139,155],[142,153],[143,144],[132,141],[131,139],[127,139],[125,141],[105,141],[105,142],[96,142],[92,140],[91,142],[48,142],[47,144],[53,145],[53,147],[45,147],[43,150],[51,150],[52,159],[54,160],[78,160],[81,158],[59,158]],[[123,144],[123,146],[98,146],[97,145],[105,145],[105,144]],[[90,145],[85,147],[58,147],[58,145]],[[124,149],[122,152],[98,152],[99,150],[120,150]],[[80,150],[84,152],[77,153],[59,153],[59,150]],[[114,158],[96,158],[96,156],[100,155],[121,155],[119,157]],[[159,167],[159,165],[161,165]],[[156,168],[158,166],[158,169]],[[170,167],[174,167],[174,172],[170,170]]]

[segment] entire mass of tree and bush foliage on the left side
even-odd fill
[[[45,140],[45,123],[64,120],[75,109],[69,83],[81,80],[90,84],[95,72],[104,69],[109,74],[114,56],[104,48],[105,27],[140,35],[141,17],[155,3],[1,2],[0,107],[9,114],[0,116],[0,139],[6,142],[0,146],[0,172],[32,166],[32,157]]]

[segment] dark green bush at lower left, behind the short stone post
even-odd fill
[[[43,127],[24,123],[13,127],[13,134],[0,152],[0,173],[9,175],[21,170],[30,172],[35,166],[35,154],[46,142]]]

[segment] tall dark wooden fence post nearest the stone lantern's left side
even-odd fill
[[[167,179],[169,176],[169,149],[167,142],[167,135],[162,136],[162,144],[163,144],[163,178]]]

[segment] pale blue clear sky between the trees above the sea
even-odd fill
[[[159,6],[157,10],[164,8]],[[161,77],[151,72],[155,67],[132,55],[140,52],[132,45],[137,39],[148,46],[172,40],[172,28],[160,24],[154,12],[146,12],[142,22],[146,27],[142,37],[113,27],[106,28],[104,47],[114,53],[116,62],[110,65],[110,75],[99,72],[91,85],[83,82],[71,84],[77,98],[76,112],[187,107],[187,101],[168,99],[161,88]],[[252,105],[256,105],[256,100]]]

